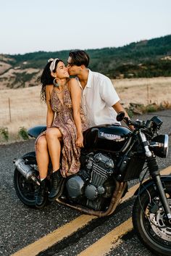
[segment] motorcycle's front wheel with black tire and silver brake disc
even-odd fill
[[[167,201],[171,208],[171,183],[165,181],[164,185]],[[153,185],[148,188],[148,192],[145,190],[135,199],[133,227],[138,238],[151,252],[156,255],[169,256],[171,255],[171,225],[167,222],[167,218],[164,218],[164,210],[162,210],[158,192]]]

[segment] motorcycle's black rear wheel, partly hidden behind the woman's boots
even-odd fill
[[[14,189],[23,204],[35,207],[37,185],[33,181],[27,181],[17,169],[14,170]]]

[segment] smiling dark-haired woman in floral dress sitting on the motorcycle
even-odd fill
[[[53,168],[50,201],[59,194],[62,176],[67,177],[77,173],[80,168],[80,147],[83,146],[83,131],[88,125],[80,108],[80,86],[75,78],[69,77],[67,67],[60,59],[49,59],[41,75],[41,96],[47,104],[47,129],[36,140],[36,160],[41,180],[36,196],[37,207],[42,207],[46,202],[49,155]]]

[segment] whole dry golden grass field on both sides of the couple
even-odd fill
[[[123,79],[112,82],[125,107],[130,102],[143,105],[171,102],[171,78]],[[19,139],[17,133],[20,127],[46,124],[46,104],[40,100],[40,90],[40,86],[0,90],[0,127],[8,128],[9,141]]]

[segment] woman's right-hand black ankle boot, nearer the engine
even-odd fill
[[[51,192],[49,194],[49,201],[54,201],[59,196],[59,192],[62,187],[62,183],[64,182],[64,178],[59,170],[55,171],[51,174],[52,183],[51,183]]]

